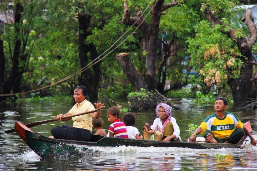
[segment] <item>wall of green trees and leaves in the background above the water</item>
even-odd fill
[[[122,23],[125,2],[131,17],[142,15],[147,23],[152,21],[151,15],[147,15],[151,14],[152,6],[171,3],[168,0],[0,1],[1,13],[13,16],[0,28],[0,94],[20,93],[1,96],[0,101],[15,101],[17,98],[21,101],[28,97],[62,99],[60,97],[65,95],[70,97],[78,84],[85,84],[90,89],[91,102],[95,102],[93,96],[98,99],[131,98],[132,95],[128,95],[135,88],[115,56],[129,53],[135,69],[147,80],[148,51],[143,44],[145,33]],[[176,2],[160,14],[155,45],[155,88],[168,98],[195,98],[194,103],[211,103],[217,96],[233,100],[231,80],[239,79],[241,68],[249,65],[236,43],[240,38],[251,38],[249,27],[240,20],[245,10],[240,8],[237,0]],[[20,18],[15,18],[19,5],[22,7]],[[10,10],[14,11],[13,15]],[[208,10],[226,25],[209,22],[206,17]],[[81,16],[85,17],[85,22],[80,21]],[[82,29],[83,24],[87,25]],[[230,28],[235,30],[234,38],[226,34]],[[83,45],[88,48],[84,52],[79,50],[82,44],[78,44],[82,35],[85,36]],[[251,49],[254,56],[255,43]],[[96,55],[100,57],[96,59]],[[255,61],[255,58],[251,60]],[[90,67],[98,62],[99,71]],[[86,66],[90,73],[72,75]],[[251,67],[252,77],[256,66]],[[97,72],[99,79],[94,79]],[[90,78],[87,77],[91,73]],[[67,79],[58,82],[64,78]],[[90,87],[92,83],[98,87],[96,90]],[[189,88],[181,89],[186,85]],[[41,89],[45,86],[49,87]],[[40,90],[22,93],[36,89]],[[251,97],[250,101],[255,98]]]

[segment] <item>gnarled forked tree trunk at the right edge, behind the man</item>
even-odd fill
[[[252,47],[253,44],[257,42],[256,27],[252,22],[252,12],[251,10],[247,10],[245,17],[242,19],[249,28],[249,39],[246,39],[245,37],[236,38],[236,30],[224,24],[218,17],[214,16],[208,8],[205,10],[205,16],[212,25],[220,24],[228,27],[228,31],[224,30],[223,33],[237,44],[240,53],[244,56],[240,57],[244,62],[244,67],[241,67],[239,78],[231,78],[228,80],[233,95],[234,106],[243,107],[252,102],[257,96],[257,81],[253,78],[253,66],[250,64],[253,60]]]

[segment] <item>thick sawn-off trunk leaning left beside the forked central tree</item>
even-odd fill
[[[127,75],[129,81],[137,92],[140,91],[140,88],[147,88],[143,76],[133,66],[129,53],[120,53],[116,55],[116,59],[118,60],[120,66],[123,69],[123,72]]]

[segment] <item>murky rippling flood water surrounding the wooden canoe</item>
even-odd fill
[[[203,119],[214,113],[213,106],[200,110],[196,106],[190,110],[186,99],[172,99],[181,110],[172,111],[180,127],[183,141],[192,134],[188,124],[200,125]],[[52,119],[59,113],[66,113],[73,106],[66,103],[19,104],[0,108],[0,171],[256,171],[257,147],[249,142],[239,149],[188,149],[165,147],[83,147],[74,155],[62,155],[41,158],[35,154],[16,133],[5,134],[12,129],[15,121],[24,124]],[[125,103],[124,103],[125,104]],[[106,109],[102,110],[104,129],[109,128]],[[252,135],[257,139],[257,111],[234,109],[228,106],[242,122],[250,121]],[[137,112],[136,125],[142,133],[145,122],[153,123],[155,112]],[[122,115],[121,115],[122,117]],[[31,128],[45,136],[51,135],[53,126],[72,125],[72,121],[50,122]]]

